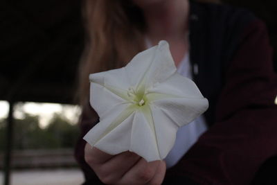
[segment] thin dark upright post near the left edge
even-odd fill
[[[4,161],[4,179],[3,184],[10,184],[10,171],[11,171],[11,159],[12,159],[12,144],[13,144],[13,105],[12,101],[9,102],[8,120],[6,122],[6,154]]]

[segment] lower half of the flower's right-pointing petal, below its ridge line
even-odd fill
[[[167,98],[152,101],[171,120],[181,127],[208,109],[206,98]]]

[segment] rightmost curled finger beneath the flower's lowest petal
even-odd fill
[[[161,161],[147,162],[141,158],[120,180],[119,184],[146,184],[156,175]],[[159,176],[157,176],[158,178]]]

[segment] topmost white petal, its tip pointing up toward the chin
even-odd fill
[[[137,91],[163,82],[177,70],[166,41],[139,53],[125,68],[131,85],[136,87]]]

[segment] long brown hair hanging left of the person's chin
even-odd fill
[[[143,12],[131,0],[84,0],[83,8],[87,44],[79,69],[81,105],[88,101],[89,73],[123,67],[145,48]]]

